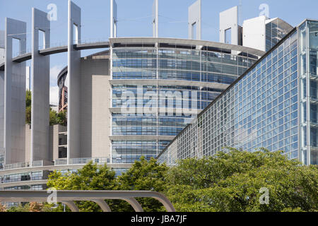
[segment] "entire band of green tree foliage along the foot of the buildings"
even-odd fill
[[[254,153],[229,148],[213,157],[181,160],[174,167],[144,157],[119,177],[88,163],[76,173],[49,175],[48,187],[71,190],[147,190],[167,196],[177,211],[318,211],[318,167],[288,160],[281,152]],[[261,203],[264,191],[268,203]],[[163,211],[151,198],[139,198],[146,211]],[[112,211],[132,211],[124,201],[107,201]],[[81,211],[100,211],[77,203]]]

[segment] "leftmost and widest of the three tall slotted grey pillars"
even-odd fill
[[[6,18],[4,69],[4,161],[25,161],[25,62],[13,62],[13,38],[25,53],[26,23]]]

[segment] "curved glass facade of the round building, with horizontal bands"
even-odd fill
[[[225,46],[112,45],[112,163],[156,157],[260,57]],[[123,113],[127,106],[136,111]]]

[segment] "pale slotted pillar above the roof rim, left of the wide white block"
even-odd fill
[[[189,7],[188,13],[188,37],[190,40],[201,40],[201,0],[194,2]]]

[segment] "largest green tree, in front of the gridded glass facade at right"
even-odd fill
[[[317,211],[318,168],[281,152],[229,148],[216,157],[187,159],[167,173],[167,195],[179,211]],[[269,204],[261,204],[261,188]]]

